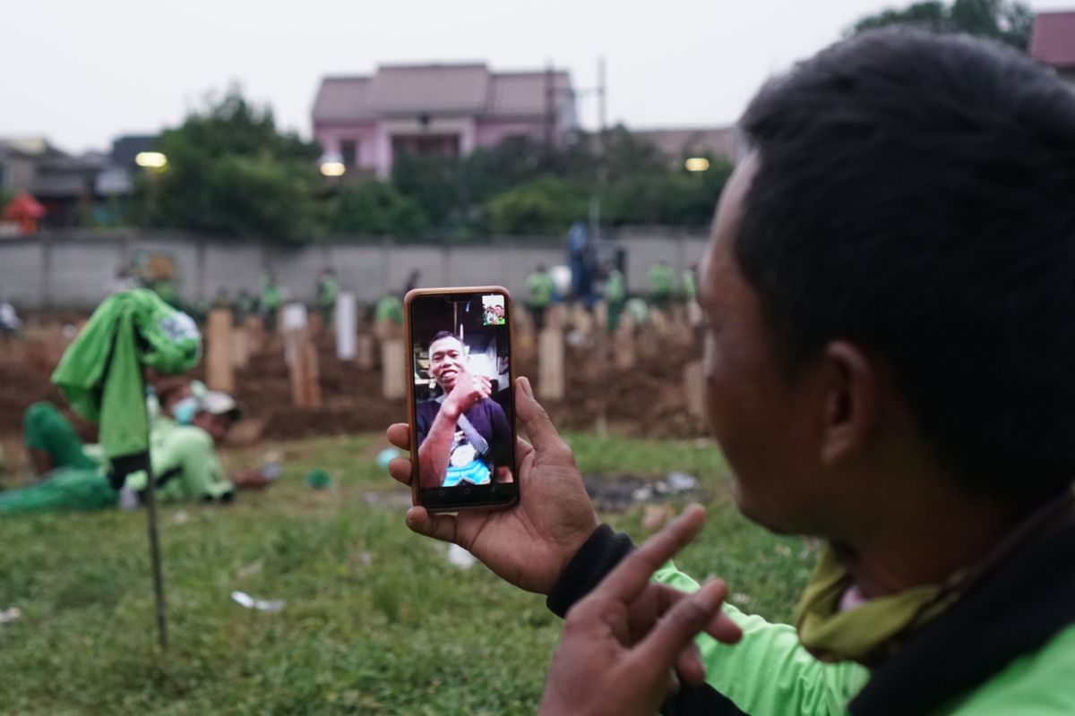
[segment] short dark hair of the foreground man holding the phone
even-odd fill
[[[1015,50],[883,30],[770,82],[733,248],[789,375],[883,356],[945,467],[1024,506],[1075,478],[1075,91]]]

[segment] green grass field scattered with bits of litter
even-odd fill
[[[737,516],[712,444],[570,442],[584,472],[697,474],[710,516],[678,566],[727,579],[747,612],[790,616],[813,554]],[[533,714],[559,619],[542,597],[481,565],[455,567],[445,545],[410,532],[408,494],[374,463],[385,447],[379,436],[273,445],[286,467],[267,493],[164,508],[167,655],[155,646],[144,512],[0,521],[0,610],[23,612],[0,626],[0,712]],[[304,484],[313,467],[330,489]],[[647,535],[641,508],[602,516]],[[247,610],[232,589],[287,607]]]

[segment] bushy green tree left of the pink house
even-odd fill
[[[277,132],[272,111],[238,88],[157,146],[168,163],[141,185],[148,223],[286,243],[317,235],[319,147]]]

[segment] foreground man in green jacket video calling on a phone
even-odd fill
[[[525,498],[407,526],[567,616],[541,716],[1075,714],[1075,93],[1015,48],[889,28],[739,127],[703,390],[714,484],[818,545],[794,624],[669,561],[697,508],[637,552],[599,525],[525,378]]]

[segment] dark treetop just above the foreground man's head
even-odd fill
[[[933,32],[965,32],[1026,50],[1033,24],[1033,12],[1017,0],[955,0],[951,6],[929,0],[863,17],[846,34],[855,35],[890,25],[911,25]]]

